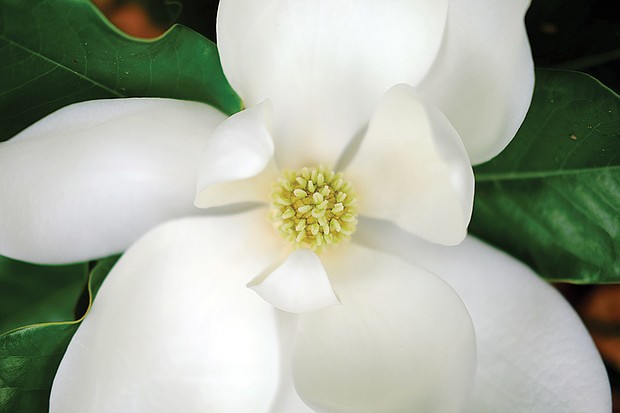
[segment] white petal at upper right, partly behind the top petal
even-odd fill
[[[458,130],[474,164],[513,138],[534,88],[529,0],[452,0],[443,45],[419,87]]]

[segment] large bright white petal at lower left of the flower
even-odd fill
[[[245,287],[279,254],[266,231],[255,210],[172,221],[137,241],[73,337],[51,412],[268,412],[291,328]]]

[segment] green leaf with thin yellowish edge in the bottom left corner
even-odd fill
[[[103,259],[91,271],[87,310],[117,259]],[[81,320],[35,324],[0,335],[0,411],[48,411],[54,375]]]

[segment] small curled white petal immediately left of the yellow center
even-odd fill
[[[213,132],[200,158],[197,207],[269,199],[277,177],[271,110],[263,102],[234,114]]]

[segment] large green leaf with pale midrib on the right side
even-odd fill
[[[620,97],[576,72],[538,70],[508,148],[475,168],[470,231],[543,277],[620,282]]]

